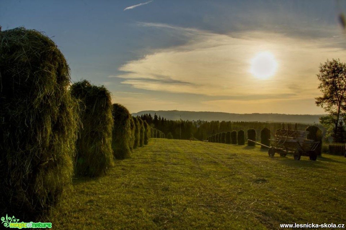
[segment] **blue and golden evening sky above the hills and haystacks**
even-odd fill
[[[324,114],[316,74],[346,62],[340,13],[346,1],[1,0],[0,26],[44,32],[72,82],[104,85],[131,113]]]

